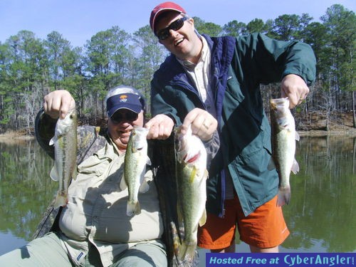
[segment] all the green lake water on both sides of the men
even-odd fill
[[[36,140],[16,142],[0,142],[0,255],[31,240],[58,188]],[[296,159],[283,207],[291,234],[280,251],[356,252],[356,138],[301,137]],[[237,241],[236,251],[248,246]],[[200,266],[206,252],[199,249]]]

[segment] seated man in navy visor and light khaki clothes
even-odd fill
[[[83,152],[78,155],[78,175],[68,188],[58,229],[4,254],[0,266],[167,266],[152,171],[147,168],[145,174],[150,189],[139,195],[140,214],[127,216],[128,192],[120,189],[130,132],[145,123],[145,100],[138,90],[119,86],[108,92],[106,104],[108,129],[103,135],[88,142],[85,131],[93,134],[95,127],[78,127],[78,142],[86,141],[78,144]],[[58,117],[66,117],[74,107],[66,90],[44,98],[36,137],[51,157],[49,140]]]

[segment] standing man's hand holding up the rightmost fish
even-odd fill
[[[284,76],[281,81],[281,96],[288,97],[289,108],[294,108],[300,105],[309,93],[308,85],[303,78],[295,74],[288,74]]]

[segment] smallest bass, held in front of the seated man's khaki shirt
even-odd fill
[[[151,164],[147,156],[147,134],[147,128],[134,126],[127,143],[124,179],[120,183],[121,189],[128,189],[127,216],[141,213],[138,193],[150,189],[145,181],[146,164]]]

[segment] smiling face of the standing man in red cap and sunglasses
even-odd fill
[[[182,18],[182,14],[175,11],[162,14],[162,17],[157,21],[156,33]],[[201,51],[201,41],[194,31],[194,20],[192,18],[184,21],[182,28],[177,29],[177,31],[169,29],[169,36],[164,40],[159,40],[159,43],[162,43],[169,52],[181,60],[192,60],[192,58],[199,56]]]

